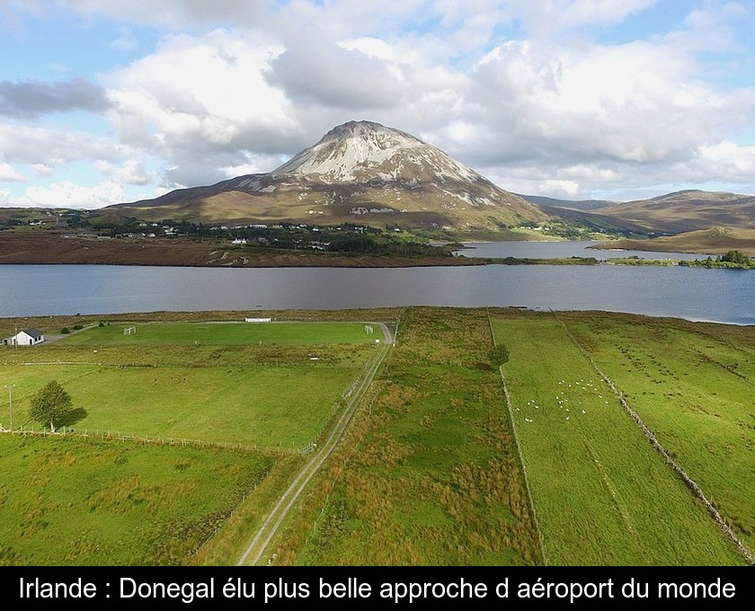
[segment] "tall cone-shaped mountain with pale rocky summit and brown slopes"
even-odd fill
[[[459,231],[547,218],[435,146],[371,121],[331,129],[271,173],[103,209],[145,220],[357,222]]]

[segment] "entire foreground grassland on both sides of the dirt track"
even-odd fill
[[[265,562],[744,563],[591,359],[755,548],[755,327],[515,308],[290,324],[186,315],[85,321],[48,345],[0,347],[16,429],[41,428],[31,395],[57,379],[76,433],[210,442],[0,435],[0,563],[235,563],[308,460],[292,450],[317,438],[384,340],[360,321],[399,317],[376,382]],[[495,342],[510,353],[500,368]]]

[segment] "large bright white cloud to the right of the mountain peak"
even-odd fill
[[[741,92],[697,81],[693,68],[678,49],[646,42],[585,49],[507,43],[475,69],[465,112],[483,140],[465,150],[474,156],[478,148],[485,164],[688,157],[755,108]]]

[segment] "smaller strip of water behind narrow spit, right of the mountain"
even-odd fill
[[[465,250],[457,251],[465,257],[517,257],[532,259],[568,259],[569,257],[595,257],[599,260],[640,257],[640,259],[705,259],[707,253],[604,251],[590,248],[600,242],[466,242]],[[714,255],[715,256],[715,255]]]

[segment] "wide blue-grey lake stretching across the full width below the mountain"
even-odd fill
[[[526,306],[755,324],[755,271],[485,265],[207,269],[0,265],[0,316]]]

